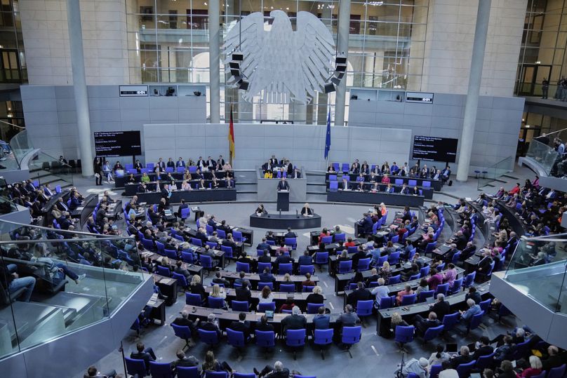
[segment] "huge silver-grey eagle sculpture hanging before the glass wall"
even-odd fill
[[[229,30],[224,46],[227,62],[233,52],[244,55],[241,76],[249,81],[244,100],[252,102],[263,90],[263,102],[307,104],[323,92],[333,72],[333,36],[309,12],[298,12],[296,31],[284,11],[269,15],[274,18],[269,31],[260,12],[247,15]]]

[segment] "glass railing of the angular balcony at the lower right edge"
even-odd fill
[[[547,307],[567,314],[567,234],[522,238],[504,279],[516,290]]]

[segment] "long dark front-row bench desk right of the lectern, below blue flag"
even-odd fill
[[[352,202],[352,203],[385,203],[393,206],[418,207],[423,205],[424,196],[412,196],[410,194],[386,194],[372,193],[371,191],[328,191],[327,202]]]

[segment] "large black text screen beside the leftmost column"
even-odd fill
[[[140,131],[95,133],[95,153],[100,157],[141,155]]]

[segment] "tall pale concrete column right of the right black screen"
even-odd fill
[[[479,10],[476,13],[476,28],[474,30],[474,43],[472,45],[469,89],[467,91],[467,102],[465,103],[465,119],[462,121],[462,134],[459,141],[458,181],[467,181],[469,177],[472,141],[474,139],[474,127],[476,125],[476,111],[479,107],[479,92],[481,90],[484,49],[486,48],[486,34],[488,32],[488,20],[490,17],[491,0],[479,0]]]

